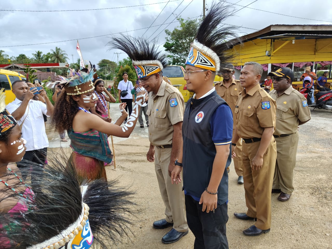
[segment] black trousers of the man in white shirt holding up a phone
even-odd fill
[[[47,147],[39,149],[39,150],[26,151],[25,155],[23,156],[23,160],[27,160],[27,161],[36,163],[36,167],[38,167],[38,165],[40,165],[40,167],[44,167],[46,156],[47,156]],[[20,168],[20,170],[22,172],[22,177],[24,178],[24,180],[26,180],[30,173],[30,165],[27,165],[21,161],[21,162],[17,162],[17,167]],[[32,168],[31,183],[35,179],[33,170],[34,169]]]

